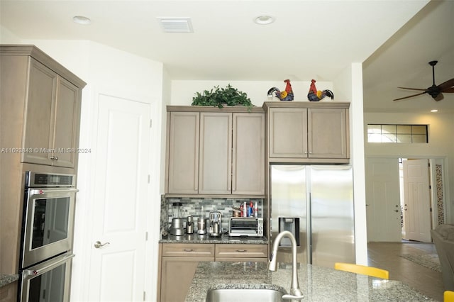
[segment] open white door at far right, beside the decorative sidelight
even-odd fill
[[[404,160],[403,167],[406,239],[431,242],[428,160]]]

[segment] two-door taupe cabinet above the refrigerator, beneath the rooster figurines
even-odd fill
[[[350,103],[265,102],[270,162],[348,163]]]

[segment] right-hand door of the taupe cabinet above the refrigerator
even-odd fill
[[[348,158],[346,109],[308,109],[309,158]]]

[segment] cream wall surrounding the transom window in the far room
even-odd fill
[[[448,170],[445,175],[448,212],[445,222],[454,223],[454,114],[365,113],[365,128],[368,123],[428,125],[427,144],[368,143],[367,133],[365,133],[365,155],[367,157],[443,158],[445,168]]]

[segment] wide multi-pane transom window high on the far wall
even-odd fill
[[[427,143],[427,125],[367,125],[367,142]]]

